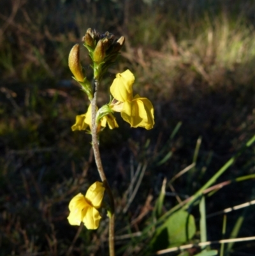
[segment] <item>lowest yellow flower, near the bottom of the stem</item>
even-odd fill
[[[101,207],[104,192],[103,183],[96,181],[89,187],[85,197],[82,193],[73,197],[69,202],[69,224],[80,225],[84,222],[87,229],[98,229],[101,220],[98,209]]]

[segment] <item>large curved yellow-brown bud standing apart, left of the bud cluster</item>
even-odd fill
[[[80,47],[78,43],[73,46],[68,57],[68,66],[79,82],[84,81],[84,74],[82,73],[82,65],[80,64]]]

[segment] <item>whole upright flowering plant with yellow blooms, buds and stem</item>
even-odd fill
[[[92,68],[94,71],[93,83],[91,84],[85,77],[80,64],[79,45],[75,45],[69,53],[69,68],[75,79],[81,86],[89,101],[87,112],[76,117],[75,124],[71,126],[71,130],[82,131],[89,130],[92,135],[92,147],[96,165],[98,167],[101,182],[97,181],[82,195],[78,193],[69,203],[68,221],[71,225],[80,225],[84,222],[87,229],[98,229],[101,215],[99,209],[102,206],[103,194],[106,191],[110,199],[110,209],[107,209],[109,221],[109,250],[110,256],[115,255],[114,252],[114,198],[112,190],[103,170],[98,146],[98,134],[108,125],[110,129],[118,128],[119,125],[115,120],[115,112],[120,112],[124,121],[128,122],[131,127],[143,127],[150,130],[154,126],[154,108],[147,98],[142,98],[139,94],[133,96],[133,84],[135,76],[130,70],[117,73],[116,78],[110,86],[110,103],[106,103],[98,108],[96,103],[97,92],[103,74],[106,73],[110,64],[112,64],[119,55],[119,50],[124,45],[125,38],[121,36],[119,40],[115,40],[115,36],[106,32],[99,34],[92,29],[87,29],[84,38],[84,46],[89,51],[92,60]]]

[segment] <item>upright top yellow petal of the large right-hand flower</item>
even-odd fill
[[[113,80],[110,92],[113,97],[119,102],[126,102],[126,100],[133,99],[133,83],[135,82],[135,76],[130,70],[126,70],[123,73],[118,73]]]

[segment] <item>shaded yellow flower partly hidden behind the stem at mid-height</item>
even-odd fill
[[[86,114],[82,114],[76,117],[76,122],[75,124],[73,124],[73,126],[71,126],[71,130],[72,131],[87,130],[88,127],[91,128],[92,130],[91,124],[92,124],[92,112],[91,112],[91,105],[89,105],[89,108]],[[119,127],[115,120],[115,117],[112,114],[108,114],[100,119],[98,124],[98,132],[101,127],[106,127],[106,124],[108,124],[110,129]]]

